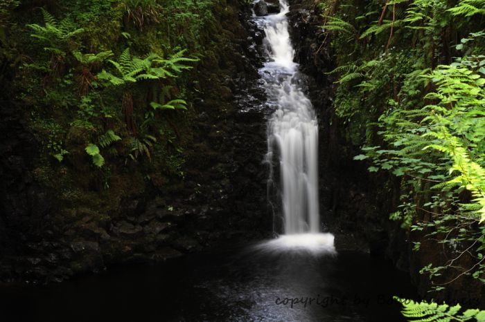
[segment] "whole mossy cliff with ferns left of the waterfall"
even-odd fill
[[[58,281],[266,234],[247,5],[0,10],[1,280]]]

